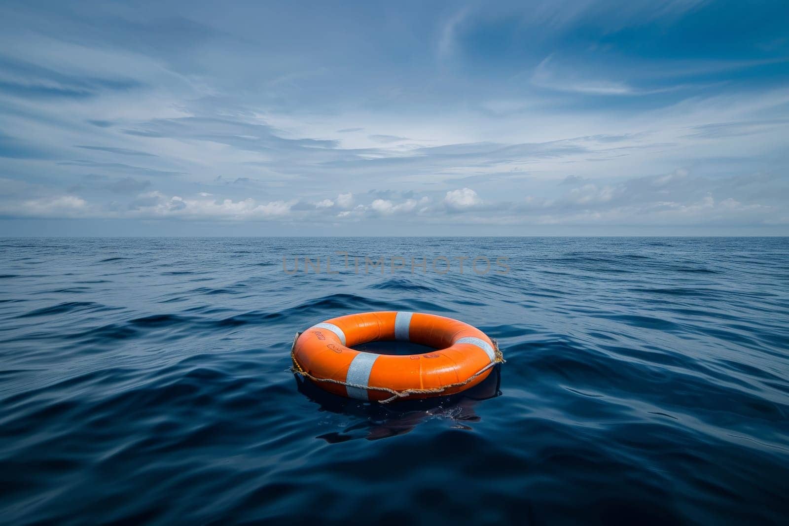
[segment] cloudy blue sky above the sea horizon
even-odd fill
[[[0,236],[789,235],[789,2],[0,5]]]

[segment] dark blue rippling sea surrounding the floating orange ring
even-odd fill
[[[325,274],[335,250],[359,273]],[[786,238],[2,240],[0,522],[786,524],[787,262]],[[462,319],[507,363],[383,407],[294,379],[297,330],[373,310]]]

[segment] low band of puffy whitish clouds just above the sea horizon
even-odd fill
[[[114,181],[129,184],[134,181]],[[338,222],[398,218],[414,227],[454,225],[783,225],[787,223],[789,184],[776,175],[729,177],[711,180],[675,170],[656,176],[633,177],[606,184],[581,181],[559,185],[557,196],[525,196],[516,200],[484,202],[471,188],[443,193],[442,200],[414,195],[407,199],[369,200],[354,204],[350,194],[316,203],[297,200],[215,198],[200,192],[199,198],[161,191],[140,194],[120,207],[118,203],[90,202],[84,197],[41,196],[0,202],[0,212],[43,218],[159,218],[200,221],[289,221],[314,224],[332,211]],[[768,189],[767,189],[768,188]],[[36,187],[17,187],[30,193]],[[13,196],[12,196],[13,197]],[[451,216],[451,219],[450,219]]]

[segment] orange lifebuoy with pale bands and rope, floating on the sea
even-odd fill
[[[408,356],[350,349],[376,340],[412,341],[436,351]],[[390,401],[454,394],[477,385],[502,362],[481,330],[420,312],[362,312],[329,319],[298,335],[294,370],[324,390],[361,400]]]

